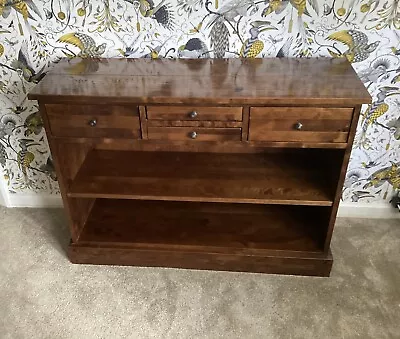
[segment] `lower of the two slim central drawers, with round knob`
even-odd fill
[[[241,128],[148,127],[153,140],[240,141]]]

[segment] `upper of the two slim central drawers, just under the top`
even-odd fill
[[[147,119],[242,121],[242,107],[147,106]]]

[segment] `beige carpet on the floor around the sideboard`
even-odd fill
[[[0,209],[0,338],[400,338],[400,221],[341,219],[330,278],[72,265],[61,210]]]

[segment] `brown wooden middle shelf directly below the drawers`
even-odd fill
[[[92,150],[67,194],[75,198],[331,206],[336,179],[324,160],[332,152]]]

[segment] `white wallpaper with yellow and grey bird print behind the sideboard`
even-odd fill
[[[373,103],[342,199],[389,201],[400,188],[400,0],[0,0],[0,165],[11,193],[58,194],[26,97],[75,57],[347,58]]]

